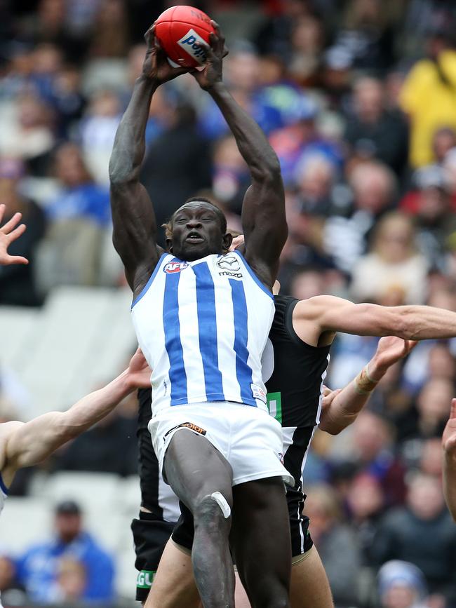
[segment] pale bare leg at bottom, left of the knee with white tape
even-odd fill
[[[169,540],[156,571],[146,608],[201,608],[192,557]]]

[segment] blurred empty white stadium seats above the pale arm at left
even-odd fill
[[[2,309],[1,363],[20,374],[34,416],[65,410],[126,365],[136,346],[130,299],[128,289],[62,287],[41,311]]]

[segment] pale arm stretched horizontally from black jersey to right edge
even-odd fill
[[[298,302],[293,327],[302,339],[323,332],[360,336],[398,336],[405,340],[456,336],[456,313],[435,306],[378,306],[354,304],[330,295]]]

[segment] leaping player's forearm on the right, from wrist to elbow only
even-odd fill
[[[233,99],[222,82],[216,83],[208,93],[220,108],[232,131],[241,155],[253,177],[264,179],[268,175],[280,176],[279,159],[257,123]]]

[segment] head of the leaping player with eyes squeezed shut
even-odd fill
[[[192,262],[222,253],[225,241],[220,218],[211,205],[198,201],[182,205],[173,219],[173,238],[167,245],[173,255]]]

